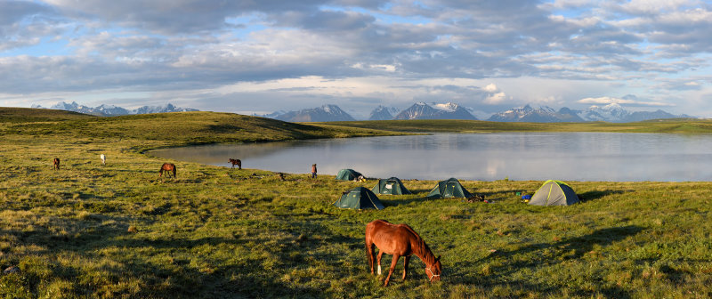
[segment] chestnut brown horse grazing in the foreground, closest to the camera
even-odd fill
[[[442,264],[440,256],[435,257],[430,248],[425,244],[423,238],[406,224],[391,224],[384,220],[374,220],[366,225],[366,253],[368,255],[368,265],[373,274],[374,245],[378,247],[378,275],[381,275],[381,255],[393,255],[391,270],[385,278],[384,286],[388,286],[391,275],[395,270],[395,265],[401,256],[405,257],[403,263],[403,280],[406,279],[410,255],[417,255],[425,263],[425,276],[431,282],[440,280]]]

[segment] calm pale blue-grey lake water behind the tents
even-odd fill
[[[368,137],[153,150],[214,166],[291,174],[352,168],[371,178],[494,181],[712,181],[712,135],[476,133]]]

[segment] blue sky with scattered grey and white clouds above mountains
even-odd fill
[[[712,2],[0,0],[0,106],[712,117]]]

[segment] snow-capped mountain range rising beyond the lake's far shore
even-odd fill
[[[371,111],[368,120],[390,119],[477,119],[468,109],[456,103],[417,102],[408,109],[400,111],[393,107],[378,106]],[[320,108],[302,109],[299,111],[277,111],[267,115],[253,115],[257,117],[271,117],[290,122],[326,122],[350,121],[354,118],[336,105],[324,105]],[[605,121],[611,123],[628,123],[648,119],[661,118],[690,118],[687,115],[673,115],[663,110],[635,111],[623,109],[619,104],[612,103],[600,106],[591,106],[588,109],[575,110],[562,108],[555,110],[548,106],[532,108],[530,105],[508,109],[495,113],[487,120],[498,122],[531,122],[531,123],[560,123],[560,122],[587,122]]]

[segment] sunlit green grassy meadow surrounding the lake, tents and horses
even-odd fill
[[[692,128],[686,133],[708,133],[705,122],[671,122],[677,130]],[[658,124],[628,126],[644,131]],[[384,210],[353,211],[331,204],[343,190],[370,188],[375,181],[287,174],[283,182],[257,169],[142,154],[210,142],[388,135],[393,133],[378,129],[417,125],[0,109],[0,267],[17,267],[0,274],[0,296],[712,296],[709,182],[569,182],[581,204],[543,207],[523,204],[516,195],[533,193],[541,182],[462,181],[493,201],[469,203],[425,199],[436,182],[414,180],[404,181],[414,195],[381,196]],[[451,131],[477,132],[473,126]],[[55,157],[61,158],[57,171]],[[163,162],[177,166],[177,178],[158,177]],[[304,169],[311,164],[304,161]],[[401,259],[383,287],[384,275],[369,274],[363,241],[366,223],[374,219],[413,227],[442,256],[442,281],[428,283],[417,258],[403,281]],[[384,268],[390,262],[384,255]]]

